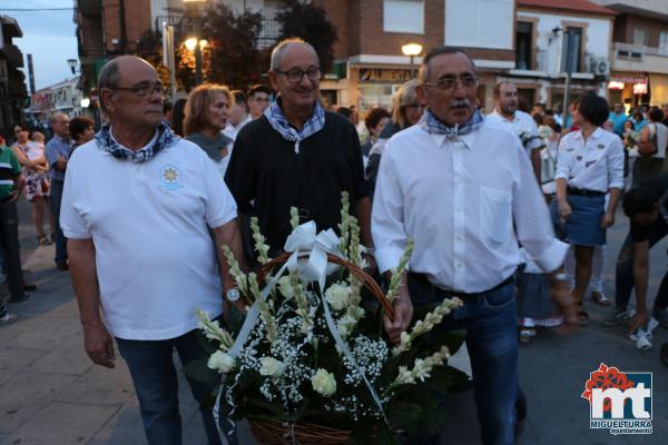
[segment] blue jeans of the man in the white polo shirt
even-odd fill
[[[141,421],[150,445],[181,445],[181,419],[178,411],[178,382],[174,367],[173,350],[176,349],[184,366],[206,357],[196,330],[166,340],[126,340],[116,338],[118,350],[128,364]],[[220,437],[210,408],[203,407],[217,390],[186,377],[193,396],[199,403],[208,445],[220,445]],[[213,404],[209,404],[213,406]]]

